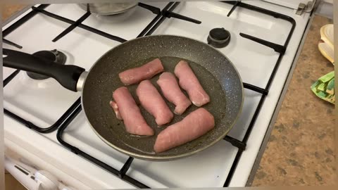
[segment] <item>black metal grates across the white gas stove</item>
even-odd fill
[[[232,12],[237,8],[237,7],[242,7],[242,8],[247,8],[251,11],[257,11],[259,13],[264,13],[267,15],[271,15],[275,18],[280,18],[283,20],[287,20],[290,23],[292,23],[292,29],[289,32],[289,35],[287,37],[286,42],[284,43],[284,45],[279,45],[279,44],[274,44],[271,42],[267,42],[263,39],[258,39],[256,37],[252,37],[249,34],[240,34],[242,37],[246,38],[246,39],[250,39],[253,40],[254,42],[258,42],[260,44],[263,44],[265,46],[269,46],[270,48],[274,49],[275,51],[280,53],[279,58],[277,59],[277,63],[275,63],[275,68],[273,69],[273,72],[270,75],[270,79],[268,80],[268,84],[266,85],[266,87],[263,89],[261,87],[256,87],[253,84],[247,84],[244,83],[244,88],[246,89],[250,89],[253,91],[256,91],[257,93],[262,94],[261,100],[258,103],[258,106],[256,108],[256,112],[253,115],[253,118],[251,119],[249,128],[246,131],[246,134],[244,136],[244,139],[242,141],[238,140],[238,139],[234,139],[233,137],[230,136],[226,136],[224,138],[225,141],[230,142],[230,144],[232,144],[233,146],[239,148],[239,151],[237,152],[237,156],[234,160],[234,163],[232,164],[232,167],[230,169],[230,173],[227,176],[227,179],[225,179],[225,184],[224,186],[229,186],[230,181],[232,179],[232,176],[234,175],[234,170],[237,167],[237,164],[239,162],[239,159],[242,156],[243,151],[246,148],[246,142],[249,139],[249,135],[251,134],[251,130],[253,129],[253,125],[256,122],[256,119],[258,117],[258,113],[261,110],[261,107],[263,106],[263,102],[265,100],[265,97],[268,95],[268,91],[270,89],[270,85],[273,82],[273,78],[275,77],[275,74],[277,72],[277,68],[280,65],[280,61],[282,60],[282,57],[284,56],[284,52],[287,49],[287,45],[289,44],[289,40],[292,37],[292,34],[294,32],[294,27],[296,26],[296,22],[293,18],[287,16],[287,15],[282,15],[280,13],[275,13],[273,11],[268,11],[265,10],[263,8],[259,8],[256,6],[251,6],[249,4],[244,4],[241,1],[224,1],[224,3],[227,4],[233,4],[233,8],[230,10],[230,12],[228,13],[227,16],[230,16],[232,14]],[[144,30],[142,30],[142,32],[137,36],[137,37],[144,37],[147,35],[151,35],[160,25],[161,23],[163,23],[163,21],[166,18],[179,18],[182,20],[186,20],[192,23],[196,23],[199,24],[201,23],[199,20],[195,20],[194,18],[188,18],[184,15],[179,15],[177,13],[173,13],[173,11],[175,10],[175,8],[180,4],[180,2],[170,2],[169,4],[167,4],[167,6],[165,6],[165,8],[163,8],[163,10],[161,10],[160,8],[156,8],[154,6],[149,6],[147,4],[142,4],[139,3],[139,6],[142,8],[146,8],[149,11],[151,11],[151,13],[156,14],[156,17],[151,20],[151,23],[149,23],[149,25],[147,25]],[[126,42],[127,40],[122,39],[120,37],[116,37],[112,34],[108,34],[106,32],[102,32],[100,30],[96,30],[93,27],[89,27],[87,25],[82,24],[82,21],[85,20],[89,15],[90,15],[90,10],[87,10],[87,13],[85,13],[84,15],[82,15],[81,18],[79,18],[77,21],[74,20],[70,20],[68,18],[64,18],[60,15],[56,15],[54,13],[50,13],[48,11],[45,11],[44,8],[46,8],[46,6],[48,5],[41,5],[38,7],[32,6],[32,11],[30,11],[30,13],[27,13],[27,15],[25,15],[23,18],[21,18],[20,20],[18,20],[17,22],[15,22],[13,25],[11,25],[10,27],[8,27],[6,30],[4,30],[3,32],[3,36],[6,37],[7,34],[13,32],[13,30],[15,30],[17,27],[20,27],[20,25],[22,25],[23,23],[25,23],[27,20],[29,20],[30,18],[32,18],[32,16],[36,15],[37,13],[42,13],[44,15],[48,15],[51,18],[55,18],[57,20],[61,20],[65,23],[69,23],[70,27],[68,27],[66,30],[64,30],[63,32],[61,32],[61,34],[58,35],[58,37],[56,37],[55,39],[53,39],[53,42],[61,39],[61,37],[65,36],[65,34],[68,34],[69,32],[71,32],[75,27],[80,27],[84,30],[88,30],[90,32],[93,32],[95,34],[99,34],[103,37],[106,37],[108,39],[112,39],[115,40],[117,42]],[[20,48],[20,45],[15,44],[13,42],[8,42],[6,41],[5,43],[11,44],[17,48]],[[10,75],[9,77],[6,78],[6,80],[4,80],[4,87],[6,86],[6,84],[8,84],[9,82],[11,82],[11,80],[15,77],[15,75],[18,75],[18,72],[20,72],[20,70],[16,70],[15,72],[13,72],[12,75]],[[10,116],[11,118],[18,120],[19,122],[23,123],[23,125],[25,125],[26,127],[29,127],[31,129],[34,129],[37,132],[42,132],[42,133],[46,133],[46,132],[53,132],[56,129],[58,129],[57,132],[57,139],[58,141],[65,146],[66,148],[69,148],[70,151],[72,151],[73,153],[82,156],[83,158],[86,158],[87,160],[90,160],[92,163],[95,163],[96,165],[99,165],[100,167],[104,168],[105,170],[107,170],[108,172],[111,172],[113,175],[116,175],[117,177],[120,177],[120,179],[125,180],[126,182],[129,182],[130,184],[134,184],[134,186],[137,186],[139,188],[149,188],[149,186],[146,186],[145,184],[142,184],[141,182],[138,182],[136,179],[133,179],[132,177],[126,175],[127,170],[129,170],[130,165],[132,165],[132,161],[134,160],[134,158],[130,157],[127,159],[127,161],[125,162],[125,164],[123,165],[123,167],[121,167],[120,170],[116,170],[115,168],[111,167],[110,165],[107,165],[106,163],[101,162],[100,160],[88,155],[87,153],[85,153],[84,151],[81,151],[79,148],[72,146],[70,144],[68,144],[67,142],[63,141],[63,132],[65,130],[66,127],[68,127],[68,125],[70,124],[70,122],[73,121],[74,118],[76,118],[76,116],[78,115],[78,113],[80,113],[80,111],[82,110],[81,104],[80,104],[80,99],[77,99],[77,101],[75,101],[75,103],[73,103],[73,105],[61,116],[61,118],[51,127],[47,127],[47,128],[41,128],[41,127],[37,127],[36,125],[32,124],[32,122],[29,122],[27,120],[24,120],[23,118],[20,118],[18,115],[15,115],[14,113],[11,113],[10,111],[4,109],[4,113],[8,116]]]

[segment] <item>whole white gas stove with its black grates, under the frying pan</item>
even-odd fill
[[[56,49],[67,57],[65,64],[89,70],[123,39],[175,34],[206,42],[210,30],[223,27],[231,39],[219,50],[234,63],[246,87],[242,114],[226,139],[189,158],[170,162],[133,160],[92,131],[80,110],[80,92],[63,89],[51,78],[33,80],[26,72],[4,68],[4,79],[13,77],[6,80],[4,87],[6,156],[15,152],[21,161],[50,172],[74,189],[245,186],[254,163],[259,162],[256,158],[264,149],[263,140],[269,136],[269,126],[273,125],[287,77],[292,75],[289,71],[311,13],[297,15],[292,8],[265,1],[242,1],[229,17],[234,2],[146,4],[201,24],[165,18],[138,6],[120,15],[92,13],[74,30],[52,42],[86,11],[76,4],[37,5],[35,11],[27,10],[3,27],[4,39],[9,41],[3,47],[27,53]],[[27,14],[33,16],[26,19]],[[33,124],[34,129],[25,126]],[[53,127],[41,129],[49,126]],[[86,154],[73,148],[78,153],[75,154],[70,146]]]

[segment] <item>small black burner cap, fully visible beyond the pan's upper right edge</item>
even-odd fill
[[[210,30],[208,36],[208,44],[215,48],[223,48],[230,42],[230,32],[223,27],[216,27]]]

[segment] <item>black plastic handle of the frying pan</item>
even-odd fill
[[[21,51],[3,49],[3,54],[4,67],[53,77],[63,87],[71,91],[77,91],[77,80],[84,72],[84,68],[76,65],[59,65]]]

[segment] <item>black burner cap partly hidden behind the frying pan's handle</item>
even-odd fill
[[[54,63],[61,64],[61,65],[65,65],[65,61],[67,60],[67,56],[65,56],[65,53],[62,53],[61,51],[57,51],[56,49],[51,50],[51,51],[37,51],[33,53],[33,55],[38,56],[40,58],[44,58],[49,61],[53,61]],[[35,80],[44,80],[44,79],[49,78],[46,75],[40,75],[35,72],[27,72],[27,75]]]

